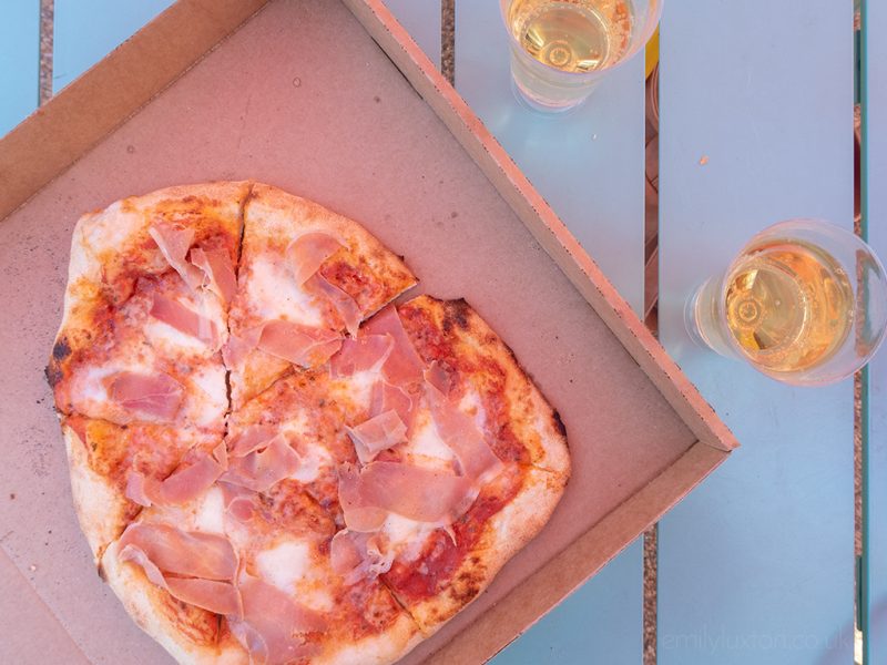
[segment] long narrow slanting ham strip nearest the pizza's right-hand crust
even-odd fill
[[[459,459],[462,473],[481,484],[497,475],[503,464],[487,444],[475,419],[463,413],[458,403],[447,398],[432,383],[425,385],[425,393],[431,407],[435,428]]]

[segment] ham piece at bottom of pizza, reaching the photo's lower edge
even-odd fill
[[[317,653],[306,633],[327,627],[323,616],[267,582],[243,573],[239,580],[243,616],[228,616],[234,636],[249,652],[251,662],[283,665]]]

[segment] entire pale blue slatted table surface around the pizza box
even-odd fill
[[[53,91],[171,3],[55,0]],[[38,103],[39,4],[4,3],[0,133]],[[870,4],[868,34],[880,35],[887,6]],[[439,63],[439,0],[388,6]],[[853,661],[852,382],[778,385],[694,347],[681,318],[693,287],[764,226],[812,216],[852,228],[852,11],[833,0],[681,0],[663,16],[660,336],[743,447],[660,523],[662,664]],[[640,311],[642,60],[616,70],[587,105],[552,120],[513,99],[496,0],[457,0],[455,34],[459,92]],[[866,40],[863,58],[863,174],[885,182],[887,40]],[[867,192],[869,237],[887,256],[887,190]],[[867,387],[860,614],[867,663],[876,664],[887,663],[887,352],[873,364]],[[642,567],[638,541],[499,654],[497,665],[641,663]]]

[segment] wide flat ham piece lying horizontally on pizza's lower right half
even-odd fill
[[[345,523],[354,531],[374,531],[386,513],[418,522],[449,524],[471,505],[477,490],[465,475],[400,462],[370,462],[357,473],[339,475],[339,500]],[[383,515],[375,523],[365,514]],[[357,523],[358,528],[354,525]],[[373,528],[367,528],[373,526]]]

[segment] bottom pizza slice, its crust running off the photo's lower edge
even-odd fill
[[[105,552],[102,572],[142,628],[183,663],[373,664],[409,651],[421,633],[385,585],[335,572],[326,511],[296,482],[243,472],[145,509]]]

